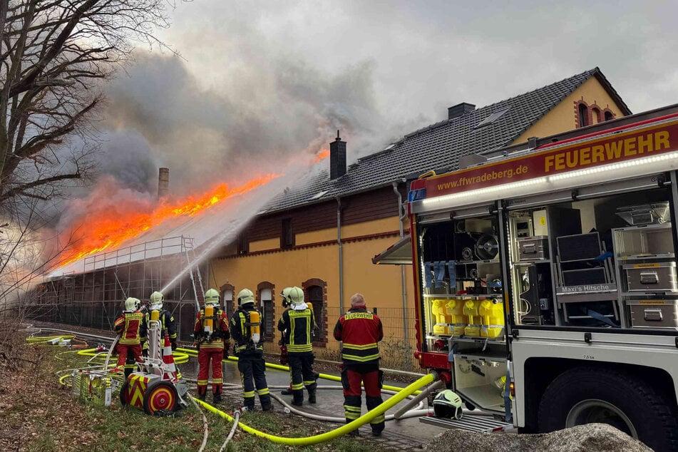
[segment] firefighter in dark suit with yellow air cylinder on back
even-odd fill
[[[245,399],[244,408],[248,411],[255,409],[256,386],[262,410],[269,411],[273,406],[266,383],[264,347],[260,341],[261,314],[255,308],[255,295],[250,289],[242,289],[238,293],[237,301],[238,309],[233,313],[230,332],[235,341],[235,356],[238,358],[242,396]]]

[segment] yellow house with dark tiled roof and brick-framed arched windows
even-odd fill
[[[314,349],[324,359],[339,356],[332,329],[349,307],[351,294],[361,292],[384,322],[384,366],[410,368],[411,268],[373,264],[408,261],[404,202],[409,181],[429,171],[456,170],[496,152],[535,147],[544,137],[556,140],[570,130],[595,130],[630,114],[600,69],[593,68],[482,108],[459,103],[448,108],[445,120],[408,133],[348,167],[349,143],[339,131],[330,143],[329,168],[268,202],[237,240],[212,257],[210,280],[219,284],[228,314],[240,289],[255,292],[271,352],[277,351],[279,338],[278,294],[284,287],[302,287],[319,324]]]

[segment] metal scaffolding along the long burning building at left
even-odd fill
[[[127,297],[148,299],[163,290],[165,309],[178,324],[178,339],[189,340],[202,296],[200,262],[190,237],[169,237],[83,259],[82,272],[46,277],[24,303],[26,317],[95,329],[113,329]],[[207,268],[203,269],[203,272]]]

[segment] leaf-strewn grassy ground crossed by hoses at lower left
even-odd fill
[[[23,340],[23,339],[21,339]],[[86,358],[58,346],[24,346],[34,363],[11,372],[0,369],[7,384],[0,389],[0,450],[6,451],[197,451],[203,438],[202,411],[192,406],[182,416],[149,416],[120,406],[117,394],[108,407],[83,404],[71,388],[58,383],[58,371],[87,366]],[[2,363],[0,362],[0,367]],[[240,394],[238,394],[240,398]],[[219,451],[232,423],[206,412],[209,437],[205,451]],[[320,423],[282,411],[245,412],[252,428],[275,436],[307,437],[335,424]],[[287,446],[237,430],[228,451],[380,451],[376,441],[341,437],[313,446]]]

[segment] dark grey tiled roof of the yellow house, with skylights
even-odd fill
[[[529,93],[477,108],[409,133],[386,150],[349,165],[346,174],[337,180],[329,180],[327,160],[318,163],[325,165],[327,170],[301,180],[298,185],[274,197],[267,205],[267,213],[384,187],[395,180],[419,175],[428,170],[436,170],[438,173],[441,170],[455,170],[463,155],[484,153],[513,143],[525,130],[592,76],[602,83],[625,114],[631,113],[600,69],[593,68]],[[492,123],[476,127],[488,116],[500,111],[505,113]],[[326,193],[314,198],[322,191]]]

